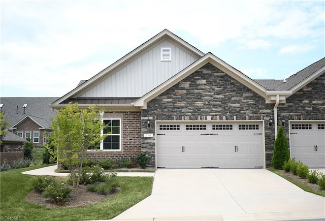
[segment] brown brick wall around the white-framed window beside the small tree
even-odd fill
[[[121,151],[87,151],[87,157],[96,159],[122,158],[134,160],[141,153],[141,120],[140,111],[106,111],[104,118],[121,118],[122,122],[122,145]]]

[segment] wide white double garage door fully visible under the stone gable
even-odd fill
[[[158,122],[157,168],[261,168],[263,124]]]

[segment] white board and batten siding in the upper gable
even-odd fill
[[[172,48],[172,60],[160,61],[160,48]],[[90,85],[76,97],[142,97],[199,59],[170,39],[163,39]]]

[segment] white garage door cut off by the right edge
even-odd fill
[[[290,122],[290,154],[310,168],[325,168],[325,121]]]

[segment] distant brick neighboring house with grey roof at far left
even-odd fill
[[[55,117],[48,105],[58,98],[1,98],[4,120],[9,122],[7,129],[19,137],[43,146],[49,133],[51,118]]]

